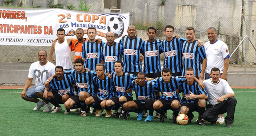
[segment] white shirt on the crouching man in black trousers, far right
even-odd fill
[[[228,93],[234,93],[230,85],[226,80],[219,78],[217,83],[212,83],[212,78],[203,81],[205,85],[205,90],[208,94],[208,100],[210,105],[218,104],[217,100],[219,97],[223,95],[227,95]]]

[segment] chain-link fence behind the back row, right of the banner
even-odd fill
[[[243,20],[238,17],[219,17],[219,16],[195,16],[195,15],[148,15],[141,16],[136,12],[131,12],[130,23],[137,29],[137,36],[148,39],[147,29],[153,26],[157,29],[156,39],[166,39],[164,27],[174,26],[174,35],[186,38],[186,27],[194,27],[196,38],[206,43],[208,41],[207,29],[216,28],[217,39],[224,41],[229,48],[230,57],[228,68],[229,73],[256,73],[256,50],[254,49],[256,37],[254,29],[256,20]],[[248,36],[248,37],[246,37]],[[244,41],[242,41],[242,39]],[[253,47],[254,46],[254,47]],[[163,60],[162,54],[162,60]]]

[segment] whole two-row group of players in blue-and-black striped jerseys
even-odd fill
[[[194,116],[192,112],[198,111],[198,124],[205,125],[201,115],[206,107],[207,95],[198,86],[202,85],[198,79],[204,78],[206,68],[204,47],[200,46],[200,40],[194,39],[194,28],[186,29],[187,39],[172,37],[173,30],[173,26],[167,25],[164,31],[166,40],[160,41],[154,39],[156,29],[150,27],[147,33],[149,40],[144,42],[136,37],[136,28],[130,25],[128,35],[120,43],[114,42],[112,32],[106,35],[107,43],[97,43],[96,29],[90,27],[87,32],[89,41],[82,41],[82,59],[75,60],[75,69],[63,72],[63,68],[57,66],[56,77],[50,82],[50,87],[46,87],[43,94],[37,94],[55,106],[52,112],[61,110],[58,103],[64,103],[65,113],[80,107],[80,115],[86,116],[86,112],[90,112],[89,107],[94,107],[97,109],[96,116],[100,116],[103,109],[106,109],[106,117],[110,117],[114,109],[116,117],[127,119],[127,112],[131,111],[138,113],[137,120],[142,120],[144,111],[148,110],[149,115],[145,120],[148,122],[153,119],[155,110],[161,115],[160,122],[164,122],[166,110],[172,109],[172,123],[175,124],[179,111],[188,114],[190,121]],[[161,77],[159,55],[162,52],[165,60]],[[145,59],[144,72],[141,72],[140,54]],[[78,86],[78,95],[73,94],[72,84]],[[179,88],[186,96],[182,101],[178,94]],[[49,93],[49,90],[54,93]],[[136,101],[132,101],[132,90],[136,93]],[[161,92],[162,96],[155,92]]]

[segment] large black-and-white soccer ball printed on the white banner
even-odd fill
[[[108,31],[115,34],[115,38],[121,37],[124,32],[124,22],[120,17],[111,17],[108,21]]]

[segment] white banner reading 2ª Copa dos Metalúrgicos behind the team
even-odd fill
[[[115,33],[116,42],[127,35],[130,13],[94,13],[62,9],[26,9],[0,7],[0,45],[51,46],[57,29],[65,29],[65,38],[76,38],[77,28],[97,29],[96,39],[106,42],[106,33]]]

